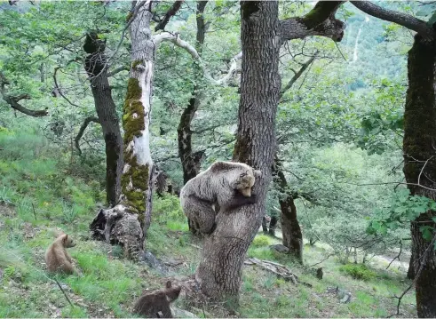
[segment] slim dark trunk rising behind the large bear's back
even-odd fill
[[[206,34],[206,24],[204,22],[204,8],[206,7],[207,1],[197,2],[197,12],[196,12],[196,22],[197,22],[197,35],[195,42],[195,50],[198,52],[199,56],[202,56],[202,46],[204,44],[204,36]],[[202,69],[199,68],[198,63],[193,64],[194,68],[194,89],[192,92],[192,97],[189,100],[186,108],[183,110],[182,116],[180,116],[180,123],[178,124],[178,156],[180,157],[180,162],[182,163],[183,170],[183,183],[189,179],[193,179],[200,171],[200,162],[203,151],[193,153],[192,147],[192,131],[191,123],[194,118],[195,112],[200,106],[201,102],[201,83],[202,83]],[[191,221],[187,219],[189,230],[196,234],[195,227],[192,227]]]

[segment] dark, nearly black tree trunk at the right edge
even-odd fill
[[[408,52],[408,92],[404,112],[404,175],[412,195],[436,200],[436,101],[435,41],[415,36]],[[420,184],[423,187],[416,186]],[[424,187],[428,187],[427,189]],[[431,189],[429,189],[431,188]],[[411,222],[412,254],[416,274],[416,309],[418,317],[436,317],[436,255],[422,227],[429,227],[432,237],[435,211],[426,211]],[[431,244],[431,246],[430,246]]]

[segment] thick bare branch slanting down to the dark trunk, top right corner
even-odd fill
[[[419,20],[409,14],[384,9],[369,1],[351,1],[351,3],[362,12],[368,13],[373,17],[399,24],[402,27],[416,31],[421,36],[430,39],[434,38],[432,28],[430,28],[425,21]]]

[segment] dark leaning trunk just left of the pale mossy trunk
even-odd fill
[[[115,102],[107,78],[107,57],[105,42],[99,40],[96,32],[91,31],[83,45],[90,53],[84,62],[84,68],[90,76],[91,92],[99,116],[106,146],[106,197],[109,207],[113,207],[120,198],[121,176],[123,174],[123,138]]]

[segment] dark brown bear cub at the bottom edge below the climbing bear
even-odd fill
[[[178,299],[182,287],[172,287],[168,281],[164,289],[142,295],[133,307],[133,313],[147,318],[173,318],[170,303]]]

